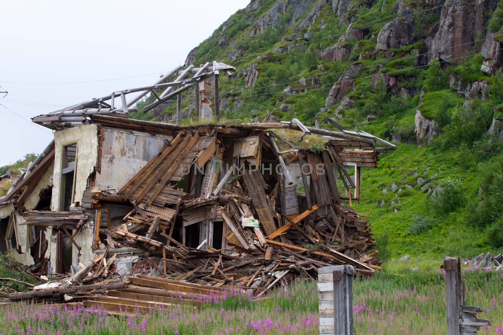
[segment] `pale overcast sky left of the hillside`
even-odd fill
[[[248,3],[2,2],[0,91],[9,94],[2,98],[5,94],[0,93],[0,104],[11,111],[0,106],[0,166],[29,152],[40,153],[52,139],[51,130],[26,120],[153,83],[160,72],[183,64],[192,48]],[[140,77],[67,83],[131,76]]]

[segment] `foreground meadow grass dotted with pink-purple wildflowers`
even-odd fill
[[[387,262],[370,280],[353,285],[355,334],[446,334],[444,273],[439,258]],[[480,306],[491,326],[503,327],[503,272],[463,267],[468,304]],[[197,312],[181,302],[150,315],[106,316],[75,305],[0,307],[2,334],[317,334],[316,283],[296,282],[260,300],[241,293],[209,297]],[[134,311],[130,311],[134,312]],[[498,332],[499,331],[499,332]]]

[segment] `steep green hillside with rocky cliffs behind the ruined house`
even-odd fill
[[[333,117],[400,143],[364,172],[357,206],[380,249],[473,256],[503,247],[502,25],[497,0],[254,0],[186,64],[237,68],[220,85],[227,120]]]

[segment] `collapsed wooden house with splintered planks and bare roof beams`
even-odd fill
[[[208,66],[175,83],[183,88],[231,68]],[[394,145],[296,119],[182,127],[127,117],[127,93],[180,99],[180,89],[154,91],[175,86],[167,84],[33,119],[55,130],[54,140],[0,198],[5,249],[30,272],[72,275],[61,284],[71,293],[87,289],[68,283],[107,279],[117,289],[128,277],[156,276],[261,295],[315,278],[319,266],[351,264],[362,276],[379,268],[370,224],[351,204],[360,201],[361,167],[376,167],[378,153]],[[149,287],[160,288],[154,282]]]

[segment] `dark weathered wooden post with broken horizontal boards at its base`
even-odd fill
[[[444,260],[447,290],[447,335],[476,334],[478,328],[490,325],[489,320],[477,318],[482,309],[466,305],[466,284],[461,278],[461,259]]]

